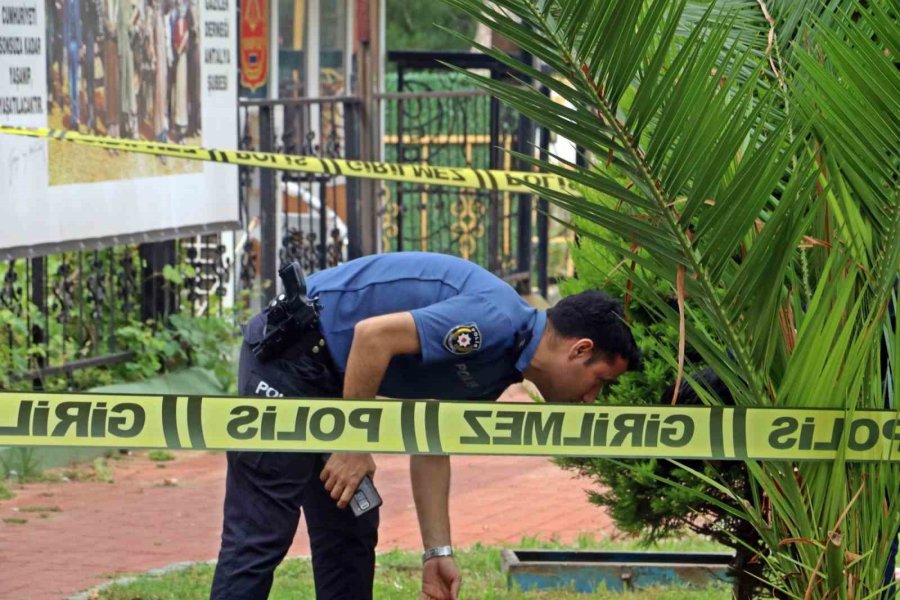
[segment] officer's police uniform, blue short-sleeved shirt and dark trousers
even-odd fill
[[[395,357],[379,394],[495,400],[522,380],[547,322],[545,312],[528,306],[488,271],[441,254],[369,256],[315,273],[307,285],[320,308],[315,337],[324,339],[327,352],[318,339],[302,339],[280,356],[258,361],[249,350],[265,329],[265,315],[257,315],[244,327],[241,395],[341,397],[356,323],[408,311],[416,323],[421,354]],[[322,457],[314,454],[228,453],[213,599],[268,596],[272,573],[293,541],[301,508],[317,598],[372,597],[378,511],[357,518],[350,510],[338,509],[319,480],[322,466]]]

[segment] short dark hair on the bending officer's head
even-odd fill
[[[629,371],[640,370],[641,352],[622,306],[605,293],[589,290],[563,298],[547,309],[547,318],[559,335],[594,342],[592,361],[613,360],[618,355],[628,361]]]

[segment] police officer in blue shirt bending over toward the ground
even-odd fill
[[[593,402],[640,358],[617,302],[602,292],[529,307],[468,261],[430,253],[357,259],[311,275],[318,329],[279,356],[249,350],[266,317],[244,328],[242,395],[495,400],[532,381],[549,401]],[[229,452],[214,600],[266,598],[302,508],[320,600],[372,597],[378,511],[346,510],[369,454]],[[422,543],[422,597],[455,599],[460,585],[448,514],[450,461],[411,456]]]

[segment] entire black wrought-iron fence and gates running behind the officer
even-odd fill
[[[461,79],[450,89],[429,79],[447,73],[438,60],[506,76],[485,57],[392,53],[391,60],[399,67],[398,90],[377,97],[374,107],[357,97],[242,100],[242,149],[376,158],[372,135],[370,156],[362,155],[363,134],[378,123],[365,110],[383,115],[388,161],[527,170],[510,151],[546,148],[546,132],[496,99],[462,89],[468,84]],[[176,240],[163,232],[152,243],[68,244],[47,256],[0,262],[0,384],[40,387],[63,376],[74,388],[79,369],[132,358],[119,339],[124,327],[179,311],[221,314],[234,299],[224,297],[232,278],[235,297],[258,308],[274,295],[281,265],[296,260],[306,272],[336,265],[362,255],[367,235],[367,252],[455,254],[523,292],[537,283],[546,294],[547,207],[531,194],[250,168],[241,169],[239,182],[243,229],[233,236],[200,227]],[[361,218],[365,211],[370,221]],[[371,241],[378,234],[380,246]]]

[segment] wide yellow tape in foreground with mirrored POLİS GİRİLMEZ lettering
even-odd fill
[[[900,462],[900,411],[4,392],[0,446]]]

